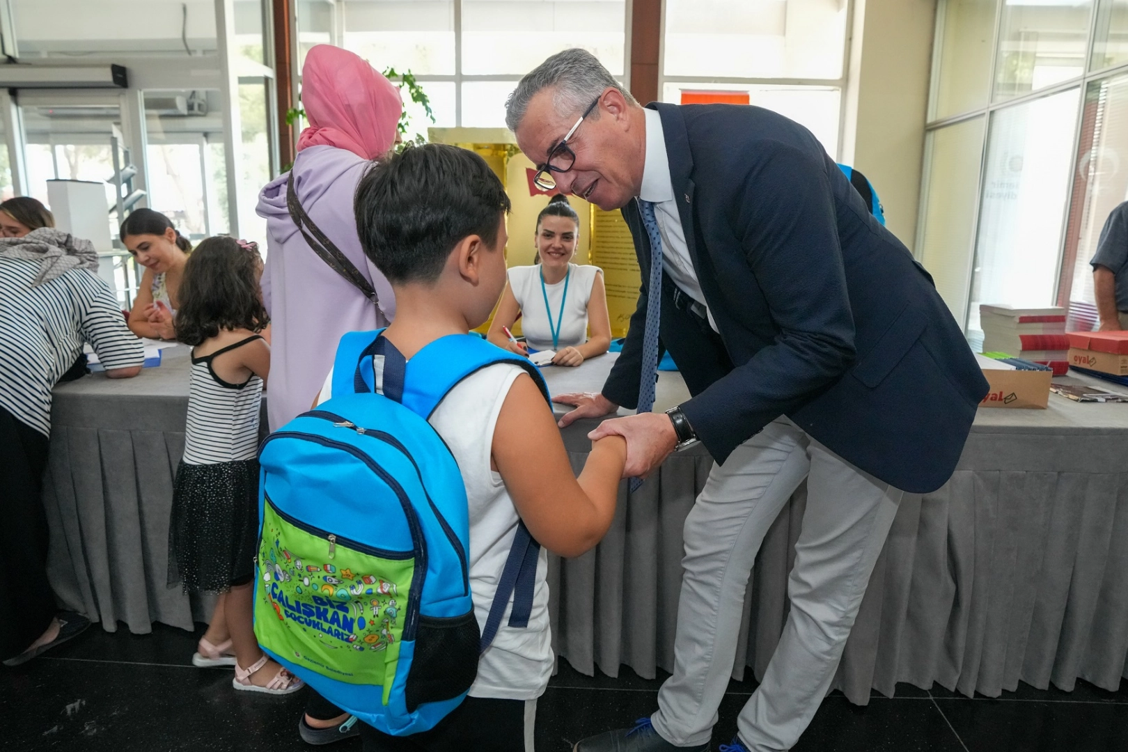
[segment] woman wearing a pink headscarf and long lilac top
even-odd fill
[[[263,188],[256,210],[267,232],[262,285],[273,325],[271,430],[309,409],[341,335],[387,326],[396,310],[391,286],[361,250],[353,193],[369,161],[397,141],[399,90],[358,55],[319,44],[306,55],[301,98],[309,127],[298,139],[293,168]],[[307,235],[316,239],[317,232],[294,223],[288,185],[359,273],[352,281],[310,247]],[[368,294],[360,289],[365,283]]]

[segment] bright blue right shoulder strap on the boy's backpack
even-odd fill
[[[407,362],[403,389],[404,407],[430,418],[443,398],[467,377],[495,363],[525,369],[552,405],[548,386],[529,359],[506,352],[473,334],[448,335],[415,353]]]

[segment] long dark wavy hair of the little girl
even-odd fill
[[[199,345],[220,329],[262,331],[270,324],[258,289],[262,257],[255,244],[235,238],[208,238],[184,265],[176,338]]]

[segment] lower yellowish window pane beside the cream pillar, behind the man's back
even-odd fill
[[[919,259],[957,321],[967,318],[982,116],[928,133]]]

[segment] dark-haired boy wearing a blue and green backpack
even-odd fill
[[[596,442],[576,478],[536,370],[468,335],[505,284],[509,207],[485,160],[464,149],[426,144],[370,168],[356,225],[395,289],[395,321],[382,334],[346,335],[318,407],[262,451],[256,631],[268,653],[365,722],[367,751],[532,750],[536,699],[553,669],[538,542],[579,556],[615,514],[625,442]],[[385,412],[365,414],[376,409]],[[433,431],[412,422],[423,418]],[[443,452],[457,465],[443,465]],[[329,461],[355,489],[356,516],[347,520],[342,502],[340,522],[321,530],[315,517],[338,492],[321,476],[302,493],[300,475]],[[394,497],[384,486],[365,490],[370,475],[402,492],[402,532],[395,505],[372,520],[368,499]],[[362,541],[371,524],[379,547]],[[373,670],[376,656],[384,663]]]

